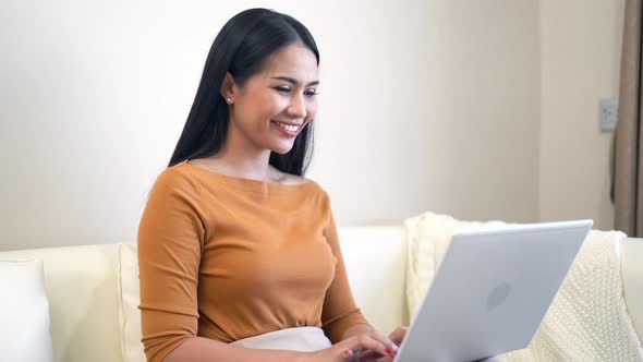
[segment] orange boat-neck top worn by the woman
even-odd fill
[[[199,336],[232,342],[367,323],[353,300],[327,193],[183,161],[156,180],[138,228],[142,341],[161,361]]]

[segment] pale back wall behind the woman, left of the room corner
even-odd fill
[[[340,225],[538,218],[538,2],[0,5],[0,250],[135,240],[211,41],[262,5],[322,51],[308,177]]]

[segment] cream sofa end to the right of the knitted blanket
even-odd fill
[[[621,242],[621,278],[628,313],[639,339],[643,338],[643,239]]]

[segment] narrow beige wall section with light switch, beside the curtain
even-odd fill
[[[614,227],[598,100],[618,95],[624,0],[541,0],[541,219]]]

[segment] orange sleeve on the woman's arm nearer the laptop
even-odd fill
[[[336,343],[341,340],[341,337],[349,327],[359,323],[368,322],[362,315],[353,299],[339,246],[335,218],[331,212],[329,214],[330,219],[325,230],[325,237],[332,250],[332,254],[337,258],[337,264],[335,266],[335,279],[332,279],[330,287],[326,291],[326,298],[322,309],[322,328],[330,341]]]

